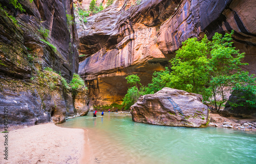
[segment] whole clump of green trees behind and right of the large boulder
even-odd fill
[[[244,101],[231,106],[256,107],[256,79],[254,75],[249,76],[248,72],[241,70],[240,66],[247,63],[241,62],[244,53],[232,47],[232,34],[233,31],[224,36],[216,33],[212,41],[206,35],[201,41],[197,38],[187,39],[176,52],[176,57],[170,60],[171,71],[166,67],[164,71],[155,72],[152,83],[136,91],[143,95],[170,87],[195,92],[203,95],[205,103],[214,103],[218,111],[227,101],[226,93],[233,91],[234,94],[241,94],[242,91],[241,99]],[[140,82],[133,76],[127,77],[127,80],[132,85]],[[217,96],[221,97],[220,100]]]

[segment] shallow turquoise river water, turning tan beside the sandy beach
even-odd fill
[[[256,163],[255,132],[155,126],[125,114],[97,115],[89,112],[59,125],[88,130],[92,163]]]

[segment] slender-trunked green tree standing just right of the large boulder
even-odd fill
[[[212,41],[208,43],[210,48],[209,57],[209,75],[210,86],[212,88],[212,93],[214,95],[214,103],[216,109],[219,111],[223,103],[227,101],[225,92],[230,92],[231,87],[233,87],[238,81],[233,77],[238,76],[237,74],[244,72],[241,71],[241,65],[247,65],[247,63],[242,63],[241,60],[244,58],[244,53],[239,53],[239,50],[232,47],[231,35],[233,31],[228,34],[226,33],[224,37],[221,34],[216,33],[212,37]],[[243,83],[247,83],[244,81]],[[221,95],[221,100],[218,102],[216,95]]]

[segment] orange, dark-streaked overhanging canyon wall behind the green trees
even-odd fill
[[[142,84],[168,66],[170,58],[190,37],[235,31],[234,46],[246,56],[243,66],[256,73],[256,22],[253,0],[117,0],[79,26],[79,75],[89,85],[97,105],[120,102],[137,74]]]

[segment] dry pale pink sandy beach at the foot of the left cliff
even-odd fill
[[[1,133],[0,143],[4,143]],[[78,163],[84,130],[60,128],[53,123],[12,130],[8,134],[8,160],[0,163]],[[1,146],[4,150],[4,144]]]

